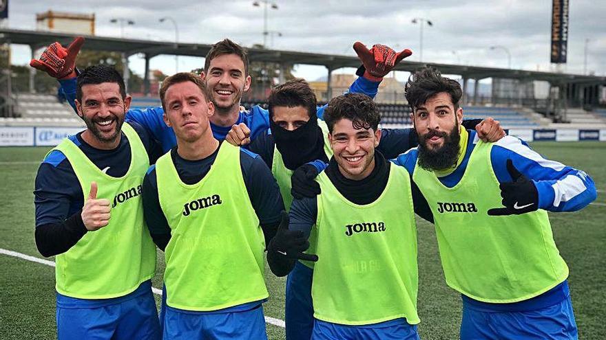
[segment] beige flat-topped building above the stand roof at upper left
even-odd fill
[[[95,15],[66,12],[36,14],[36,30],[94,36]]]

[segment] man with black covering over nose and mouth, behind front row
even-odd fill
[[[364,47],[365,48],[365,47]],[[366,49],[366,51],[368,51]],[[363,53],[363,52],[362,52]],[[389,70],[386,70],[387,72]],[[379,71],[375,75],[384,75]],[[380,81],[380,79],[378,79]],[[293,170],[309,161],[321,159],[328,162],[333,156],[328,141],[328,127],[315,113],[316,98],[309,84],[302,79],[294,79],[275,87],[268,99],[269,124],[271,130],[263,133],[249,146],[249,150],[264,159],[278,181],[286,210],[291,206],[291,175]],[[318,109],[318,112],[324,108]],[[496,140],[504,135],[498,122],[487,120],[465,121],[470,128],[477,127],[483,137]],[[382,137],[377,150],[384,157],[393,158],[417,146],[412,129],[381,129]],[[230,133],[231,135],[231,133]],[[227,141],[231,141],[228,137]],[[419,205],[421,207],[421,205]],[[425,215],[430,215],[430,212]],[[310,238],[313,245],[314,233]],[[312,251],[313,252],[313,251]],[[313,328],[313,308],[311,304],[311,277],[313,263],[301,261],[286,281],[286,338],[309,339]]]

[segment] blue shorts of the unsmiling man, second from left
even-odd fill
[[[163,339],[267,340],[263,306],[238,312],[190,312],[166,306]]]

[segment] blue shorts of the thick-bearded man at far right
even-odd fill
[[[551,306],[515,311],[487,310],[463,298],[461,340],[471,339],[578,339],[570,295]]]

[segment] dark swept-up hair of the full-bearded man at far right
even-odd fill
[[[443,77],[434,67],[424,67],[412,73],[404,87],[404,95],[412,112],[441,92],[448,93],[454,109],[459,109],[459,100],[463,95],[461,84],[457,80]]]

